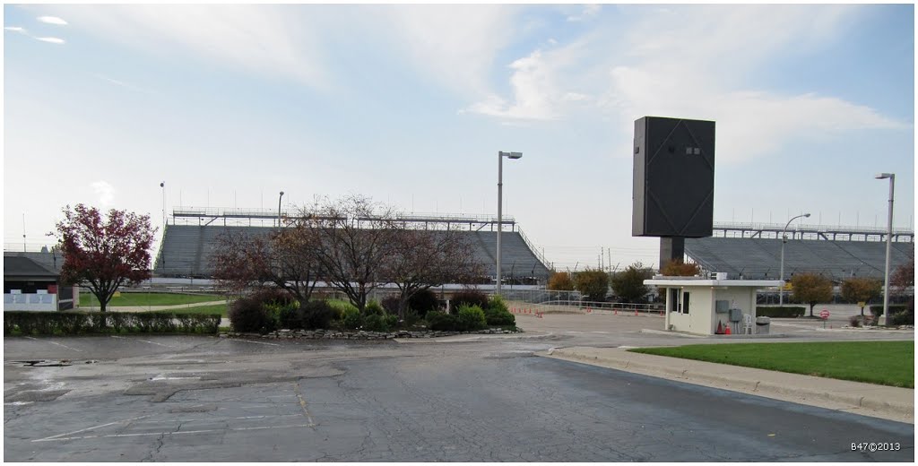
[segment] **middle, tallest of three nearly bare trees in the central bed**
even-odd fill
[[[317,235],[313,251],[323,278],[362,312],[366,297],[382,282],[386,262],[395,253],[400,226],[394,216],[391,207],[361,195],[319,201],[301,211],[300,221]]]

